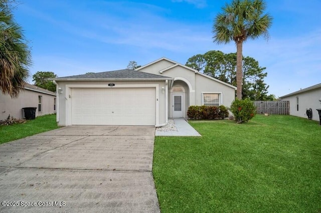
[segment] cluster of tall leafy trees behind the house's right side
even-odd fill
[[[266,68],[259,66],[259,62],[249,56],[243,57],[242,63],[242,96],[251,100],[273,98],[266,95],[269,87],[264,83]],[[186,65],[198,67],[200,72],[236,86],[236,53],[225,54],[222,51],[210,50],[190,57]]]

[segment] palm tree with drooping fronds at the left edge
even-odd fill
[[[0,88],[18,97],[30,76],[31,54],[22,27],[15,22],[8,0],[0,0]]]

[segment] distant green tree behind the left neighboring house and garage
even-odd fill
[[[57,75],[52,71],[37,71],[33,76],[35,85],[50,91],[56,92],[56,84],[49,78],[55,78]]]

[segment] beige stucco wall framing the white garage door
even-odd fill
[[[129,84],[136,84],[141,85],[141,87],[145,87],[147,84],[156,84],[158,90],[158,100],[156,100],[156,104],[158,104],[158,117],[159,121],[157,124],[163,124],[166,122],[166,108],[167,108],[167,101],[166,101],[166,92],[162,91],[162,87],[166,88],[167,86],[165,80],[161,81],[112,81],[115,83],[115,86],[110,88],[107,84],[110,81],[57,81],[58,87],[62,88],[63,93],[58,94],[59,96],[59,110],[57,113],[57,122],[60,126],[70,125],[68,123],[68,116],[70,116],[70,108],[72,104],[72,88],[70,87],[106,87],[106,89],[113,89],[117,87],[130,87]],[[70,95],[70,96],[69,96]]]

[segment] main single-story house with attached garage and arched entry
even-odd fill
[[[168,58],[136,70],[57,77],[59,125],[166,125],[190,105],[230,106],[235,86]]]

